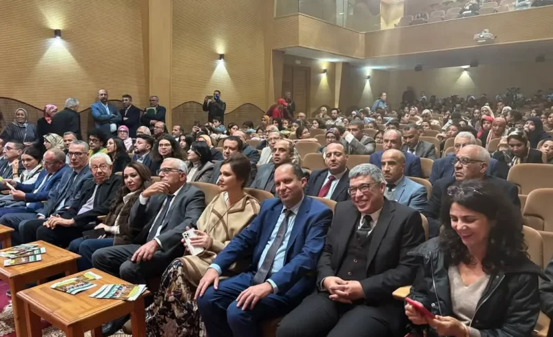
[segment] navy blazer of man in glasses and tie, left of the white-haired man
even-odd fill
[[[78,199],[79,194],[83,189],[83,184],[85,184],[85,182],[92,180],[92,173],[90,173],[90,169],[88,168],[88,165],[86,165],[85,167],[83,167],[81,172],[79,172],[79,174],[75,177],[74,182],[70,186],[67,186],[72,175],[73,175],[72,168],[68,168],[63,173],[63,175],[61,175],[58,186],[50,190],[50,193],[48,193],[48,201],[46,202],[46,204],[43,204],[42,208],[39,208],[38,210],[36,210],[36,214],[44,215],[44,217],[49,217],[50,215],[52,215],[52,213],[54,213],[54,210],[56,210],[56,208],[63,200],[62,193],[65,192],[65,188],[69,188],[69,191],[67,191],[67,199],[65,200],[65,206],[72,205],[75,199]]]

